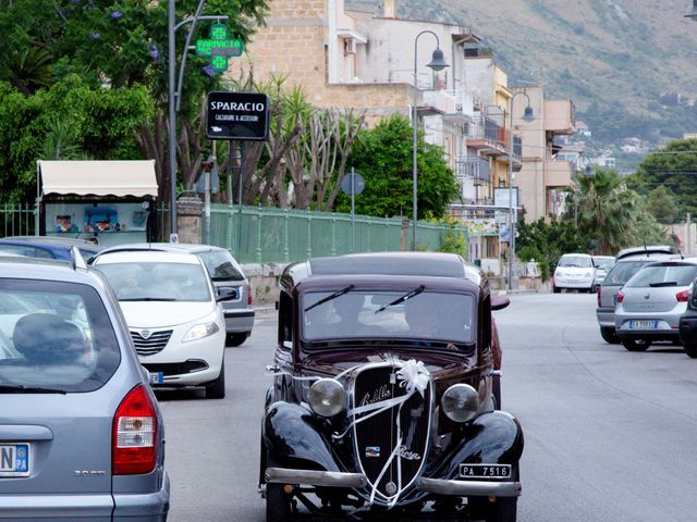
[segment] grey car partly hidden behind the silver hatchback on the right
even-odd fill
[[[620,337],[614,330],[614,309],[617,303],[617,294],[624,284],[636,274],[639,269],[648,263],[673,259],[675,256],[664,253],[662,251],[636,250],[632,253],[625,253],[610,269],[601,285],[598,286],[598,308],[596,309],[596,318],[600,326],[600,335],[611,345],[620,343]],[[677,257],[680,259],[680,257]]]

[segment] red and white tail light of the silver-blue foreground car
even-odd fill
[[[149,473],[157,461],[157,412],[145,385],[139,384],[113,415],[112,470],[114,475]]]

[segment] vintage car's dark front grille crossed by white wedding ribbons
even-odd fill
[[[374,403],[406,395],[399,384],[399,366],[392,364],[367,368],[358,373],[354,382],[354,407]],[[414,394],[400,410],[392,407],[365,421],[354,424],[355,449],[364,473],[371,486],[380,476],[398,442],[396,415],[402,427],[401,481],[398,476],[398,459],[392,459],[387,472],[377,484],[377,490],[386,496],[394,494],[394,486],[401,482],[402,489],[417,476],[426,459],[430,425],[431,387],[424,397]],[[368,415],[370,413],[364,413]],[[360,419],[363,415],[356,415]],[[378,499],[380,501],[380,499]]]

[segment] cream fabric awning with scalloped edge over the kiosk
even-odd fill
[[[41,195],[157,196],[155,160],[37,162]]]

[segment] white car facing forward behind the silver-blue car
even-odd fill
[[[109,279],[154,386],[205,386],[225,396],[222,307],[192,253],[113,247],[91,264]]]

